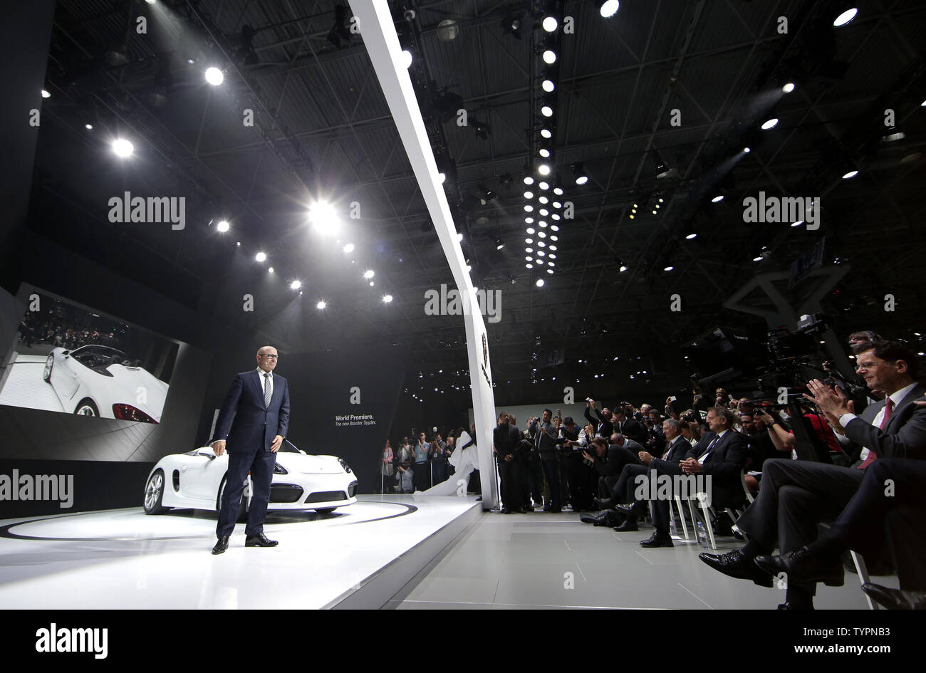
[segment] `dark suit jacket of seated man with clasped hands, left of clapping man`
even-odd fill
[[[717,437],[716,432],[708,430],[704,433],[700,442],[691,446],[684,457],[700,458],[707,451],[710,442]],[[684,442],[684,438],[682,438]],[[684,442],[688,443],[688,442]],[[720,507],[735,507],[743,502],[745,494],[743,492],[743,483],[740,480],[740,473],[745,467],[746,459],[749,457],[749,443],[741,432],[736,430],[727,430],[723,437],[714,444],[710,449],[710,455],[701,466],[701,472],[711,476],[711,501]],[[673,467],[674,466],[674,467]],[[671,463],[668,460],[654,458],[650,467],[668,467],[669,474],[678,472],[678,463]]]

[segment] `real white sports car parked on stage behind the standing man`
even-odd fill
[[[228,452],[216,457],[210,446],[188,454],[165,455],[157,461],[144,487],[145,514],[163,514],[171,507],[219,511],[228,471]],[[277,452],[270,483],[268,510],[314,509],[323,514],[357,502],[357,477],[334,455],[307,455],[284,440]],[[244,480],[244,518],[251,500],[251,478]]]

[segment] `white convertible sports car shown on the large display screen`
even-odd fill
[[[159,423],[168,396],[167,383],[122,351],[99,344],[52,349],[42,378],[65,411],[81,416]]]

